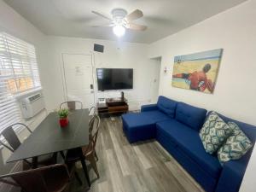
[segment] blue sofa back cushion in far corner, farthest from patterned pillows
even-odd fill
[[[169,117],[174,118],[177,102],[168,99],[165,96],[159,96],[157,102],[157,108],[163,113],[166,113]]]

